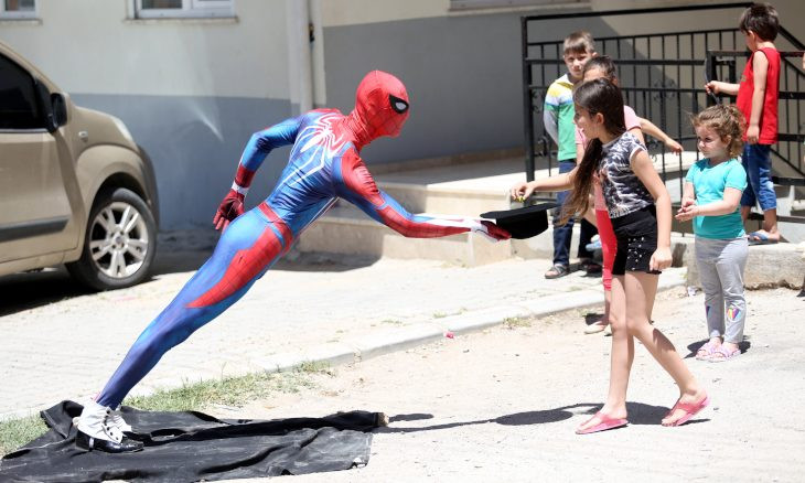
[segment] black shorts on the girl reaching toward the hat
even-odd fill
[[[625,275],[626,270],[662,273],[648,268],[657,249],[657,211],[654,205],[612,218],[612,228],[618,239],[613,276]]]

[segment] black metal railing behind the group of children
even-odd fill
[[[522,19],[523,99],[526,143],[526,178],[534,179],[537,165],[555,167],[552,140],[543,126],[544,95],[548,86],[565,72],[561,40],[534,40],[545,22],[583,17],[614,17],[645,13],[689,14],[691,11],[732,10],[737,23],[741,10],[751,3],[724,3],[715,6],[642,9],[630,11],[586,12],[560,15],[524,17]],[[732,23],[732,22],[726,22]],[[686,151],[697,152],[696,136],[688,117],[715,103],[708,97],[704,84],[709,79],[734,79],[743,69],[748,53],[743,35],[737,28],[694,30],[685,32],[652,33],[619,36],[597,36],[600,54],[610,55],[619,66],[621,89],[625,101],[637,112],[679,141]],[[803,84],[805,75],[791,62],[802,56],[802,43],[787,30],[781,29],[777,37],[784,52],[781,68],[781,128],[780,143],[775,147],[775,164],[784,164],[787,172],[803,175],[803,129],[805,103]],[[739,62],[740,61],[740,62]],[[803,84],[801,84],[801,82]],[[719,99],[720,100],[720,99]],[[684,183],[683,155],[669,155],[665,146],[646,139],[652,153],[659,154],[661,175],[668,182],[675,173],[679,193]],[[698,159],[698,152],[697,152]],[[689,163],[690,160],[687,160]],[[775,182],[793,186],[803,185],[802,178],[776,176]]]

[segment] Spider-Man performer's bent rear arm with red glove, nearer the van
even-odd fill
[[[215,229],[225,229],[229,222],[244,214],[244,198],[249,191],[255,173],[272,149],[292,144],[296,141],[299,125],[300,118],[291,118],[251,136],[240,155],[235,182],[213,217]]]

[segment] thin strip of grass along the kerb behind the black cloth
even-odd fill
[[[272,393],[299,393],[302,388],[315,387],[311,376],[320,373],[332,374],[330,364],[304,362],[283,373],[185,383],[182,387],[160,389],[149,396],[128,397],[124,405],[147,411],[198,411],[213,405],[240,407],[249,400],[267,398]],[[0,421],[0,457],[46,431],[47,427],[39,415]]]

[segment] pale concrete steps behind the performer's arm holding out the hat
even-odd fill
[[[696,162],[696,152],[683,153],[681,169],[677,154],[666,153],[665,158],[656,154],[653,159],[657,170],[662,169],[665,159],[666,185],[672,193],[672,201],[678,202],[681,196],[678,179]],[[556,173],[555,168],[552,174]],[[535,175],[546,178],[548,170],[538,170]],[[411,213],[474,217],[484,212],[520,206],[509,201],[508,190],[512,184],[524,179],[522,158],[423,168],[376,176],[378,186]],[[549,193],[544,195],[552,196]],[[572,246],[578,244],[576,240],[578,225]],[[550,258],[554,251],[551,228],[530,239],[496,244],[471,234],[444,238],[405,238],[343,201],[339,201],[304,232],[296,249],[371,258],[436,259],[463,266],[492,264],[512,257]]]

